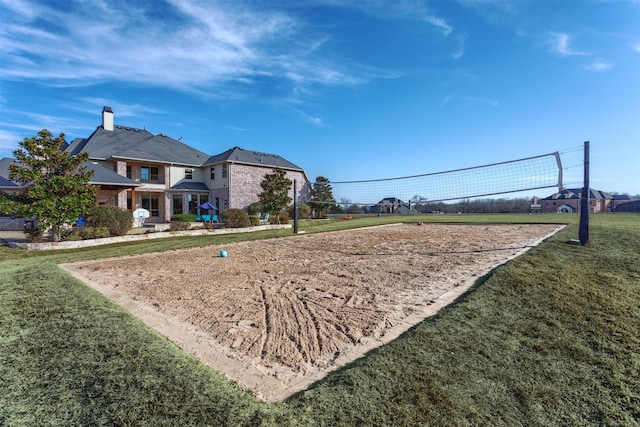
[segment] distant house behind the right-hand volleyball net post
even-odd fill
[[[540,200],[542,213],[579,213],[582,189],[564,189]],[[589,189],[589,212],[639,212],[638,199]]]

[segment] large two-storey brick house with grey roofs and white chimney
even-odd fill
[[[278,155],[234,147],[210,156],[163,134],[116,125],[110,107],[102,110],[102,125],[89,137],[73,140],[66,151],[89,153],[87,165],[95,171],[91,182],[100,186],[99,204],[132,213],[146,209],[151,223],[198,213],[196,207],[204,202],[220,211],[246,208],[258,201],[260,182],[274,168],[297,182],[300,203],[308,200],[311,189],[305,171]],[[0,190],[20,191],[8,178],[11,161],[0,163]]]

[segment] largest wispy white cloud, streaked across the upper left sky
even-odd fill
[[[310,58],[326,35],[308,35],[299,18],[255,5],[3,4],[11,16],[0,35],[0,76],[8,80],[59,86],[115,80],[201,91],[252,86],[265,76],[296,85],[359,85],[378,77],[338,65],[329,54]]]

